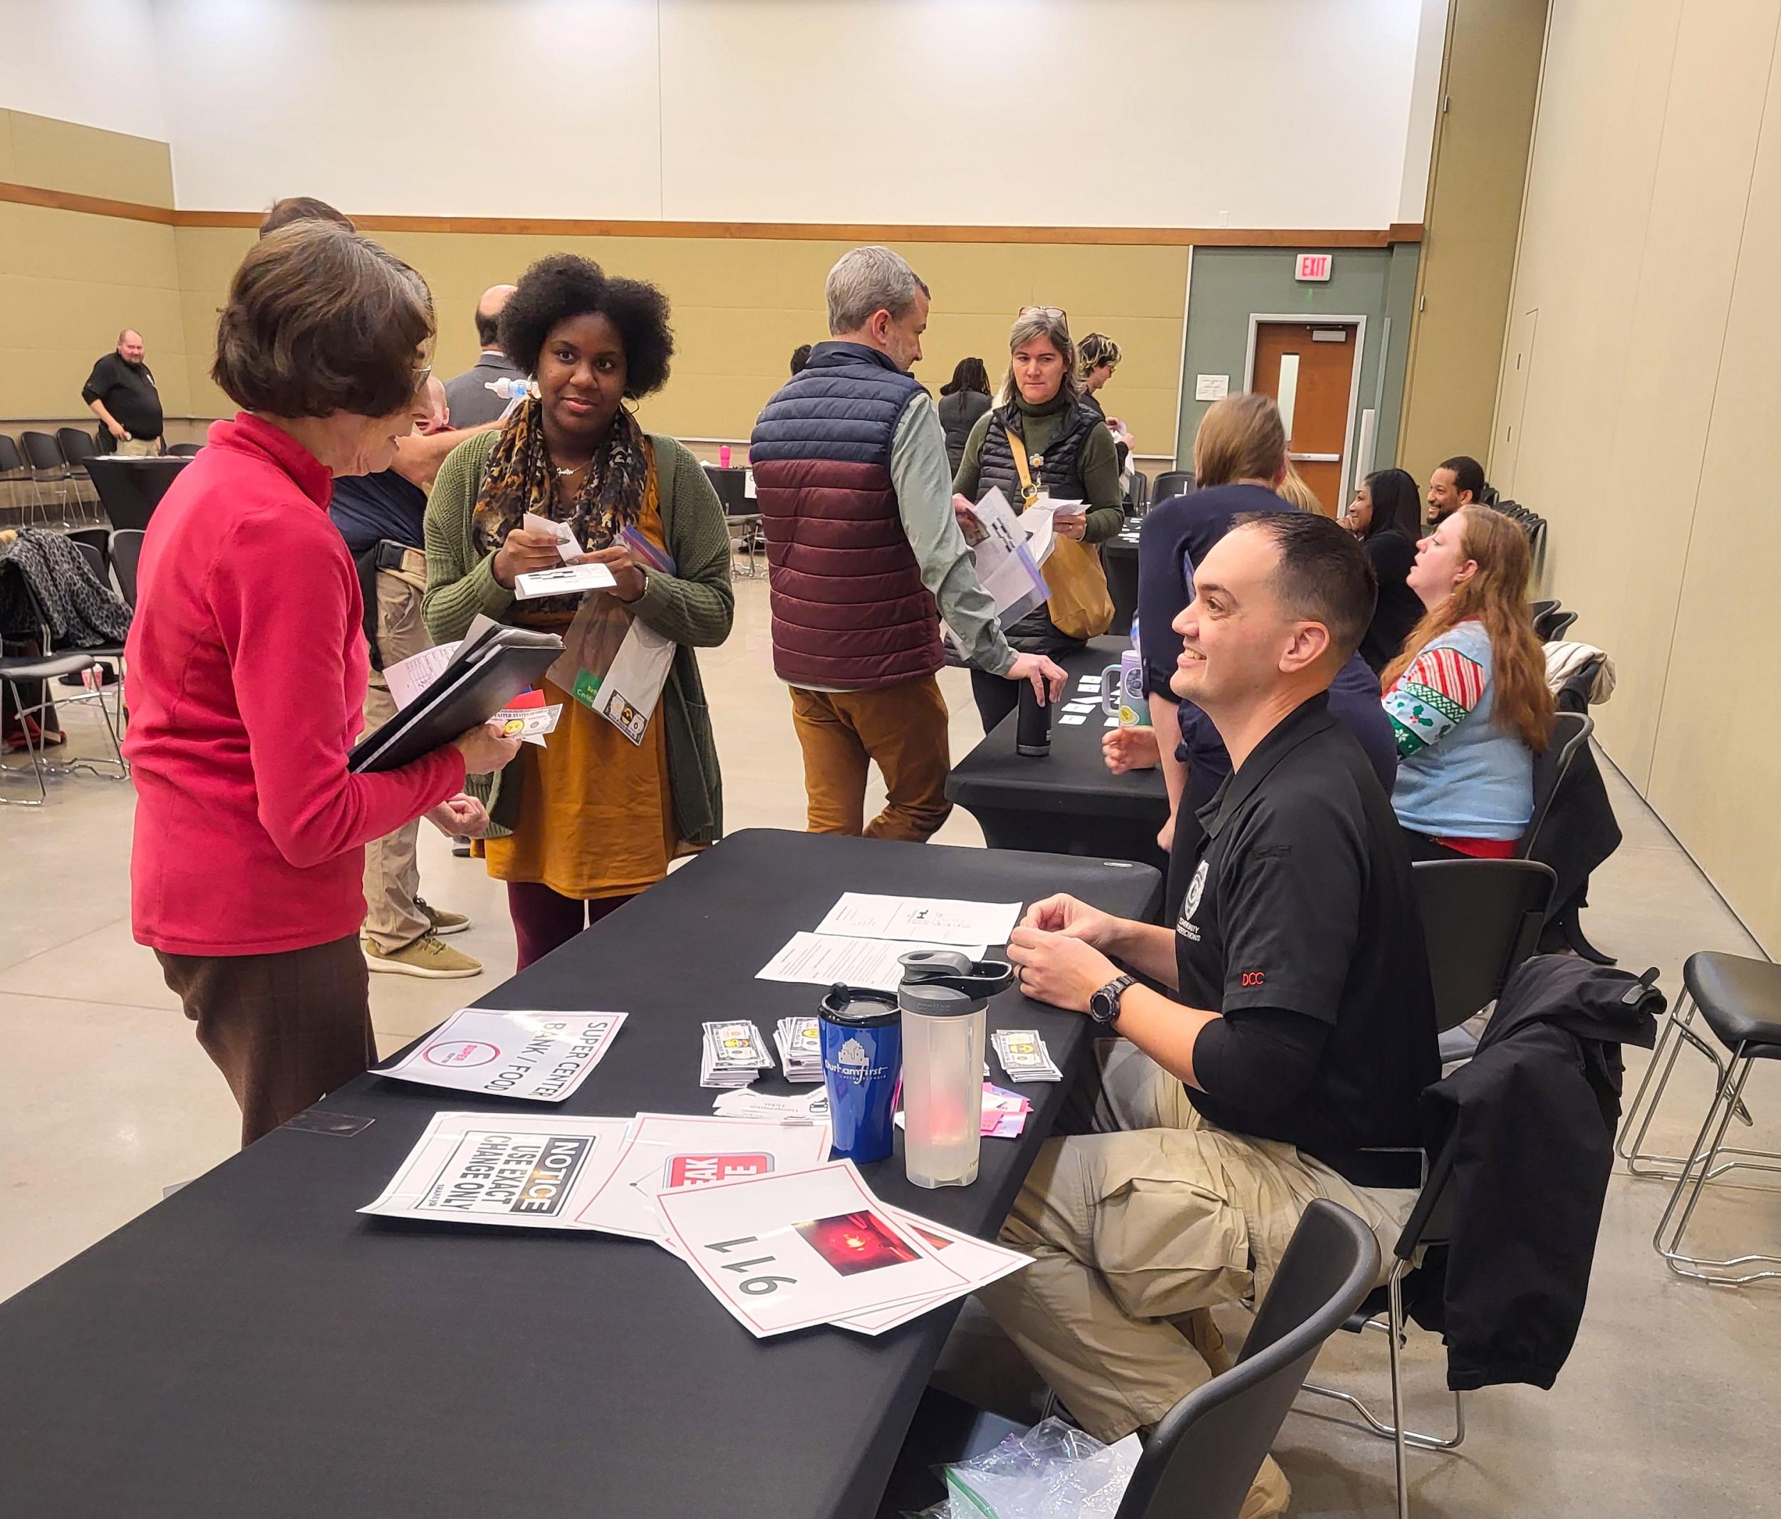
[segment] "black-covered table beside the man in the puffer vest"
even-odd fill
[[[1058,662],[1076,682],[1118,664],[1124,638],[1090,639]],[[946,796],[964,807],[996,849],[1044,849],[1095,860],[1136,860],[1168,869],[1156,833],[1168,821],[1168,792],[1159,769],[1113,775],[1101,759],[1106,719],[1099,707],[1086,723],[1051,723],[1051,755],[1026,759],[1013,751],[1019,712],[1003,718],[946,780]],[[1174,739],[1174,735],[1170,735]]]

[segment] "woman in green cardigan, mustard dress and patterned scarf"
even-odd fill
[[[536,374],[540,394],[440,467],[427,500],[427,630],[458,639],[483,613],[568,634],[573,652],[582,602],[609,597],[675,645],[641,732],[593,709],[597,678],[573,680],[575,691],[547,678],[545,700],[563,705],[556,732],[488,780],[483,851],[508,883],[524,971],[721,833],[718,750],[693,650],[728,638],[736,598],[730,536],[703,468],[673,438],[645,435],[622,404],[668,379],[661,290],[554,255],[502,308],[500,345]],[[527,513],[568,524],[614,589],[515,600],[518,575],[563,563],[557,536],[524,527]]]

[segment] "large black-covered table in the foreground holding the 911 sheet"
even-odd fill
[[[481,1004],[630,1013],[561,1111],[709,1113],[700,1022],[771,1035],[814,1011],[819,988],[752,978],[841,890],[1070,890],[1142,917],[1159,887],[1129,865],[750,830]],[[1088,1052],[1088,1019],[1017,992],[990,1024],[1037,1026],[1067,1076]],[[987,1140],[969,1188],[914,1188],[899,1158],[867,1177],[992,1236],[1065,1088],[1022,1088],[1026,1134]],[[322,1106],[376,1122],[278,1129],[0,1304],[5,1519],[873,1512],[951,1311],[757,1341],[647,1241],[369,1218],[435,1111],[540,1109],[374,1076]]]

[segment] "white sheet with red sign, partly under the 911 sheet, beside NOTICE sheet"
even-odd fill
[[[655,1195],[739,1177],[805,1170],[828,1158],[828,1124],[718,1118],[703,1113],[638,1113],[630,1143],[575,1223],[604,1234],[661,1241]]]

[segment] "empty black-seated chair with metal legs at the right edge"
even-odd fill
[[[1751,1254],[1710,1261],[1681,1248],[1701,1191],[1710,1181],[1736,1170],[1781,1172],[1781,1154],[1726,1143],[1726,1129],[1733,1117],[1751,1122],[1744,1106],[1744,1083],[1751,1079],[1751,1067],[1758,1060],[1781,1060],[1781,965],[1742,954],[1701,951],[1688,956],[1681,979],[1685,995],[1663,1026],[1656,1049],[1651,1051],[1651,1065],[1646,1067],[1644,1081],[1639,1083],[1639,1092],[1626,1109],[1617,1149],[1633,1175],[1656,1175],[1676,1182],[1651,1236],[1651,1248],[1678,1277],[1715,1287],[1781,1277],[1781,1270],[1776,1270],[1781,1266],[1781,1255]],[[1703,1036],[1696,1015],[1719,1049]],[[1687,1158],[1655,1156],[1644,1149],[1646,1133],[1685,1044],[1713,1061],[1713,1097],[1706,1104],[1706,1118]],[[1719,1051],[1724,1051],[1724,1058]],[[1656,1088],[1651,1090],[1647,1102],[1646,1092],[1653,1086],[1653,1079]],[[1760,1270],[1740,1271],[1740,1266]]]

